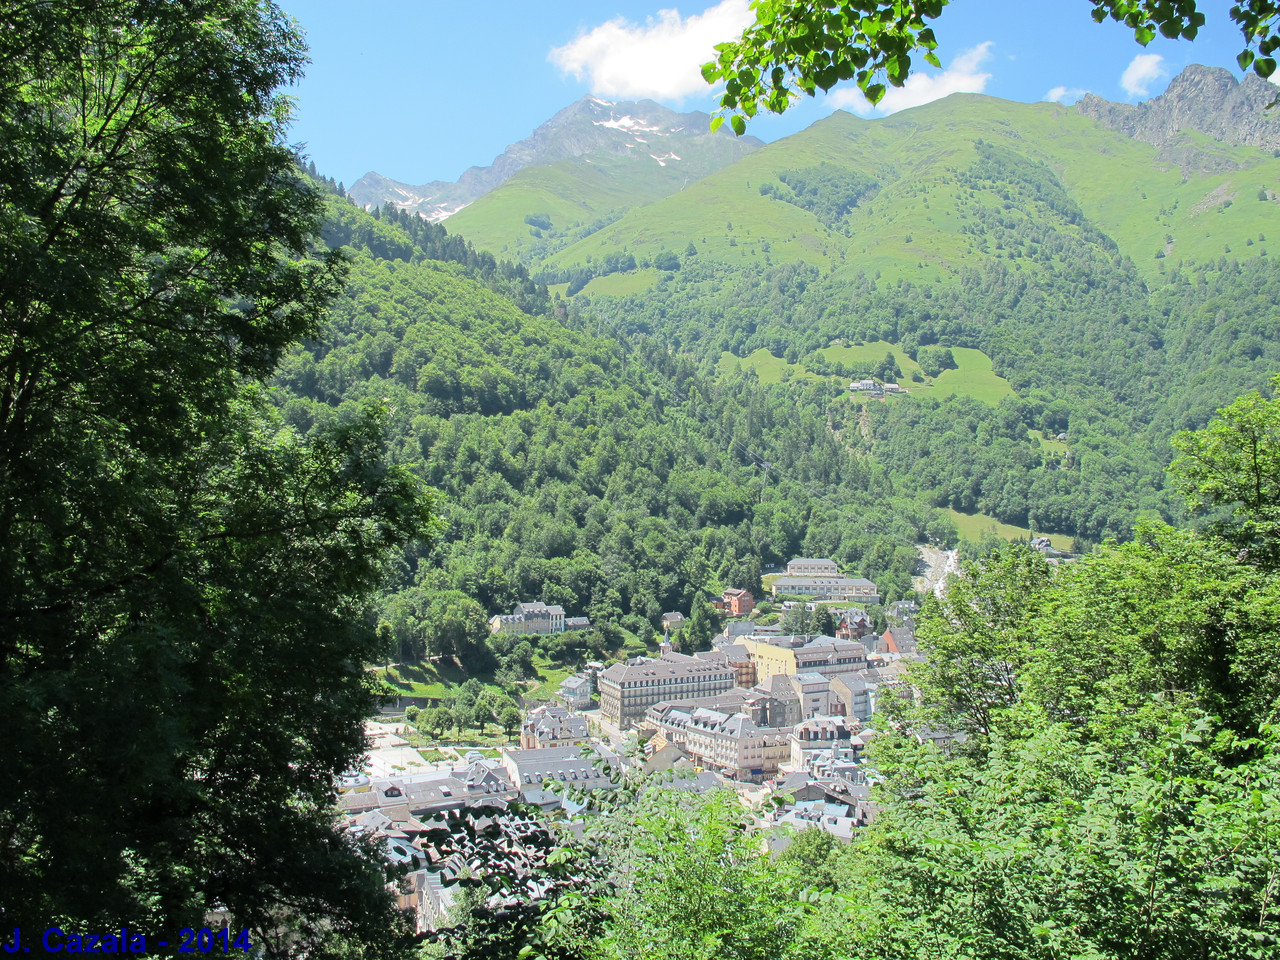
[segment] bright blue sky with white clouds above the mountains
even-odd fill
[[[278,3],[306,29],[312,59],[291,91],[291,138],[348,186],[369,170],[407,183],[456,179],[586,93],[712,111],[698,67],[749,15],[748,0]],[[1093,23],[1087,0],[952,0],[934,22],[943,69],[891,90],[887,108],[954,91],[1023,102],[1089,91],[1138,102],[1190,63],[1239,77],[1230,3],[1199,8],[1207,23],[1194,42],[1157,37],[1140,47],[1121,24]],[[833,109],[883,114],[837,88],[756,118],[748,132],[778,140]]]

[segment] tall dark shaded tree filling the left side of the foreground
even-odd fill
[[[334,778],[430,500],[378,403],[303,438],[257,384],[342,275],[283,140],[301,35],[238,0],[4,20],[5,922],[376,952],[402,922]]]

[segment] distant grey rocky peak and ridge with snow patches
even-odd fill
[[[704,113],[681,114],[652,100],[613,102],[588,96],[512,143],[489,166],[472,166],[457,183],[410,186],[367,173],[347,193],[366,207],[396,204],[443,220],[526,166],[607,154],[640,164],[678,165],[700,179],[763,146],[755,137],[733,137],[727,129],[710,133],[709,122]]]

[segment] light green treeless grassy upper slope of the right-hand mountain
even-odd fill
[[[982,160],[975,143],[1018,161],[1016,178],[1044,178],[1061,189],[1083,220],[1073,223],[1052,207],[1029,210],[1002,183],[966,180]],[[549,251],[547,265],[582,265],[618,251],[643,261],[691,242],[699,255],[731,269],[804,261],[829,270],[836,285],[877,271],[887,280],[932,280],[1011,252],[1016,259],[1019,251],[980,236],[989,218],[1012,209],[1044,229],[1079,234],[1087,225],[1155,280],[1178,260],[1247,259],[1274,242],[1260,234],[1266,237],[1280,210],[1258,197],[1280,192],[1280,159],[1253,147],[1208,146],[1244,169],[1183,170],[1149,145],[1057,104],[956,95],[882,120],[837,113]],[[878,192],[835,225],[762,196],[760,187],[780,175],[822,164],[874,178]],[[500,193],[492,202],[515,202],[515,195]],[[460,228],[465,223],[457,220]]]

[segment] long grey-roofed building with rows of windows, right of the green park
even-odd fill
[[[658,659],[637,657],[614,663],[596,677],[600,716],[626,728],[659,700],[690,700],[733,689],[736,672],[727,663],[700,660],[680,653]]]

